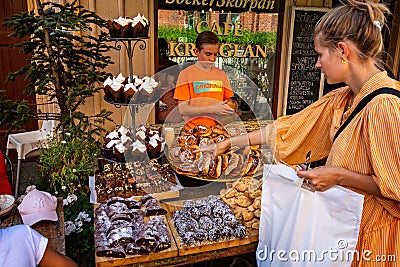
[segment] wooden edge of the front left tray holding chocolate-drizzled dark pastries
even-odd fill
[[[96,209],[98,205],[94,206]],[[148,255],[127,255],[125,258],[113,258],[113,257],[98,257],[95,255],[95,262],[97,267],[109,267],[109,266],[122,266],[122,265],[130,265],[130,264],[139,264],[145,263],[149,261],[160,260],[164,258],[171,258],[178,256],[178,247],[175,242],[175,238],[172,235],[172,231],[170,229],[168,218],[165,215],[157,215],[145,217],[145,221],[149,220],[152,217],[163,217],[164,222],[167,226],[168,233],[171,239],[171,247],[160,252],[151,252]]]

